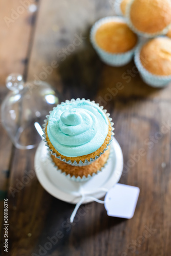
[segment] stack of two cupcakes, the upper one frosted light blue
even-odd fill
[[[93,176],[109,157],[113,123],[94,101],[67,100],[57,105],[45,124],[45,141],[54,164],[70,177]]]

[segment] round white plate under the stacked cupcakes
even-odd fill
[[[76,204],[80,201],[82,193],[99,199],[119,181],[123,169],[123,155],[119,143],[114,138],[111,143],[110,158],[102,172],[88,181],[76,182],[56,169],[45,142],[41,141],[35,154],[34,166],[40,184],[49,194],[62,201]],[[89,199],[83,203],[92,201]]]

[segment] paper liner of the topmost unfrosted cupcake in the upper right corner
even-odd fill
[[[165,27],[162,31],[159,31],[157,33],[144,33],[142,31],[139,31],[134,25],[133,23],[131,22],[131,18],[130,18],[130,10],[131,10],[131,6],[133,4],[135,0],[131,0],[130,3],[127,4],[126,6],[126,13],[125,13],[125,18],[126,18],[126,22],[127,22],[127,25],[138,35],[140,36],[144,36],[144,37],[147,37],[147,38],[153,38],[153,37],[156,37],[156,36],[159,36],[159,35],[166,35],[170,26],[171,26],[171,23],[169,25],[167,25],[167,27]]]

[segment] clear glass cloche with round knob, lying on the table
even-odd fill
[[[6,86],[10,92],[2,103],[2,124],[17,148],[31,149],[41,141],[42,124],[59,103],[58,95],[47,82],[24,82],[20,74],[9,75]]]

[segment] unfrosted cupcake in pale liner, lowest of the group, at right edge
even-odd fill
[[[147,84],[165,86],[171,81],[171,39],[161,36],[145,42],[137,49],[135,62]]]

